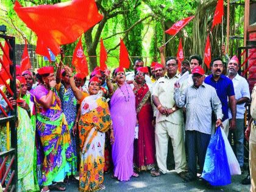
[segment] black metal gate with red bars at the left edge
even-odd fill
[[[5,83],[5,79],[1,76],[0,79],[7,87],[10,95],[13,99],[16,99],[16,75],[15,75],[15,37],[10,37],[7,35],[0,34],[0,39],[4,40],[5,43],[9,46],[9,52],[4,50],[0,42],[0,49],[2,49],[3,54],[7,57],[8,64],[10,69],[5,68],[5,63],[0,59],[2,65],[2,70],[4,73],[9,74],[10,77],[10,86]],[[4,115],[3,118],[0,118],[0,129],[6,129],[6,151],[0,151],[0,182],[4,191],[16,191],[17,182],[18,182],[18,161],[17,161],[17,130],[15,122],[17,119],[17,109],[12,107],[7,96],[0,91],[2,98],[7,102],[8,107],[10,108],[10,113],[4,111],[2,106],[0,110]],[[0,137],[4,137],[5,131],[0,131]]]

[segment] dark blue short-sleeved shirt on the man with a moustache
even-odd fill
[[[204,82],[205,84],[211,85],[215,88],[219,100],[221,100],[221,109],[224,115],[222,121],[225,121],[229,118],[229,106],[227,104],[227,99],[228,97],[235,95],[232,80],[221,74],[219,79],[215,81],[213,79],[213,74],[210,74],[210,76],[205,77]]]

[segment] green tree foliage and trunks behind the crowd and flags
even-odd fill
[[[15,1],[1,0],[0,21],[7,26],[7,33],[16,37],[16,43],[24,43],[24,38],[30,44],[35,44],[37,37],[26,27],[13,11]],[[65,0],[20,0],[23,6],[39,4],[55,4]],[[82,37],[84,51],[86,52],[90,68],[99,63],[99,40],[102,37],[108,51],[107,65],[110,68],[118,66],[119,38],[124,39],[127,50],[135,60],[137,57],[150,65],[158,61],[158,47],[165,43],[170,35],[165,30],[183,18],[195,15],[193,21],[183,28],[168,44],[165,55],[175,56],[182,38],[185,57],[191,54],[204,54],[205,40],[208,29],[212,26],[217,0],[96,0],[99,12],[104,16],[102,21],[89,29]],[[231,35],[243,34],[243,7],[230,8]],[[226,9],[225,9],[226,14]],[[226,16],[224,16],[224,35],[226,34]],[[210,34],[212,44],[212,57],[221,54],[221,25],[213,29]],[[77,42],[63,46],[66,55],[73,55]],[[230,52],[233,54],[236,47],[243,42],[239,40],[230,42]],[[97,57],[96,57],[97,56]],[[66,63],[71,63],[67,57]],[[99,64],[98,64],[99,65]]]

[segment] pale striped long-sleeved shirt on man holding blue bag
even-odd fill
[[[180,88],[174,89],[174,100],[178,107],[186,105],[185,130],[197,130],[202,133],[211,134],[212,111],[216,113],[217,119],[222,118],[221,101],[215,88],[203,83],[199,88],[188,87],[180,93]]]

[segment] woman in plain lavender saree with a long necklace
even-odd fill
[[[114,174],[118,180],[129,180],[138,177],[133,172],[133,141],[136,126],[135,95],[123,68],[115,71],[116,84],[112,84],[106,72],[107,86],[110,93],[110,115],[113,122],[115,143],[112,146]]]

